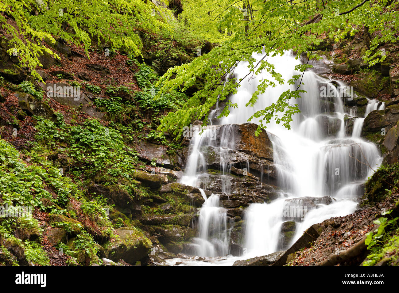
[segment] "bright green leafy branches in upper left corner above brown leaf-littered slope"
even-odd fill
[[[123,48],[137,56],[142,43],[136,30],[158,32],[169,27],[166,19],[173,19],[169,10],[146,0],[4,0],[0,12],[2,28],[11,36],[8,53],[15,52],[38,79],[35,69],[41,66],[39,57],[44,52],[59,59],[43,44],[55,44],[53,35],[83,45],[87,55],[93,38],[98,44],[111,43],[113,51]],[[16,27],[4,13],[15,20]]]

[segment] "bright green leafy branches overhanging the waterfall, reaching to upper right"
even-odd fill
[[[397,41],[395,32],[399,28],[399,22],[395,21],[399,17],[397,9],[399,4],[388,0],[367,2],[357,8],[352,0],[330,2],[184,0],[183,4],[185,9],[179,15],[179,19],[184,21],[190,30],[196,31],[200,37],[217,41],[220,46],[195,58],[191,63],[169,69],[158,82],[162,88],[157,97],[170,90],[186,91],[199,81],[204,84],[204,87],[200,88],[184,107],[170,112],[162,121],[160,132],[172,130],[174,135],[182,134],[183,127],[192,121],[207,116],[217,100],[224,101],[228,94],[237,92],[239,84],[230,80],[223,85],[223,81],[234,71],[239,61],[249,62],[248,74],[258,73],[260,69],[264,69],[279,84],[293,84],[295,80],[300,80],[298,76],[282,80],[281,75],[275,72],[274,66],[267,61],[267,58],[258,63],[252,56],[254,52],[272,56],[282,55],[285,50],[294,49],[297,57],[306,52],[311,59],[320,58],[313,53],[314,48],[322,42],[320,35],[327,34],[328,39],[338,42],[347,36],[354,36],[367,27],[372,40],[370,48],[363,55],[363,61],[371,67],[384,61],[383,51],[377,48],[382,43],[395,43]],[[355,9],[349,12],[351,8]],[[322,15],[322,18],[317,22],[306,24],[316,14]],[[297,70],[302,72],[306,67],[308,66],[301,65]],[[266,87],[274,86],[275,83],[264,75],[247,106],[253,105]],[[255,113],[251,118],[259,118],[259,128],[265,127],[263,124],[276,118],[277,122],[289,128],[292,115],[298,112],[295,105],[290,105],[289,101],[291,98],[299,97],[300,90],[299,87],[282,92],[275,105]],[[219,118],[227,116],[229,108],[234,106],[236,105],[227,103]]]

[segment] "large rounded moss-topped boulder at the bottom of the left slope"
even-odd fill
[[[129,264],[136,264],[150,253],[152,248],[151,241],[136,228],[121,227],[117,233],[122,242],[126,244],[126,252],[122,253],[121,258]]]

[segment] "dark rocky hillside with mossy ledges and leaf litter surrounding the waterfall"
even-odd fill
[[[368,69],[360,59],[362,48],[367,46],[367,41],[360,36],[346,39],[339,44],[332,44],[329,41],[326,41],[326,44],[325,47],[319,48],[321,59],[311,61],[314,65],[313,70],[353,86],[358,96],[353,101],[344,102],[346,107],[356,108],[359,116],[365,113],[367,105],[365,97],[377,98],[380,102],[386,103],[385,110],[375,110],[367,115],[362,136],[379,145],[385,163],[397,163],[399,160],[397,134],[399,77],[395,53],[397,48],[391,48],[391,55],[384,64]],[[212,47],[209,43],[203,46],[203,52],[209,51]],[[49,172],[49,166],[55,166],[71,180],[65,179],[67,181],[60,182],[76,187],[65,202],[58,202],[62,195],[61,191],[64,191],[61,184],[58,184],[53,177],[51,180],[40,177],[43,179],[41,181],[43,189],[32,193],[32,199],[35,199],[36,203],[33,212],[34,223],[27,224],[23,220],[15,220],[8,225],[12,228],[11,236],[15,239],[29,240],[33,243],[32,246],[43,247],[41,252],[48,256],[47,264],[160,265],[167,259],[187,258],[184,253],[190,251],[192,238],[198,235],[198,210],[204,203],[198,188],[178,183],[190,154],[190,139],[185,138],[178,146],[172,142],[170,136],[162,141],[156,140],[152,133],[156,125],[152,124],[153,120],[160,116],[151,116],[151,111],[140,104],[138,97],[129,94],[123,88],[105,87],[106,84],[102,82],[110,77],[107,80],[110,84],[120,85],[121,79],[125,84],[133,84],[131,90],[134,92],[141,92],[134,77],[138,68],[128,66],[126,56],[116,53],[113,62],[110,63],[102,54],[97,53],[91,54],[89,60],[79,53],[78,48],[61,42],[55,47],[62,56],[61,61],[56,61],[47,55],[41,57],[43,69],[38,72],[46,84],[34,83],[33,89],[24,91],[19,84],[27,81],[28,73],[16,65],[15,58],[6,53],[9,49],[8,42],[3,39],[0,43],[0,73],[5,79],[0,88],[2,140],[10,143],[7,147],[13,148],[12,151],[19,151],[16,161],[20,160],[22,164],[18,165],[18,168],[26,168],[24,173],[34,170],[38,174],[43,174]],[[188,55],[190,54],[191,51],[188,52]],[[301,58],[304,60],[305,57]],[[144,61],[160,73],[182,62],[182,60],[168,60],[160,66],[160,62],[157,62],[150,53],[144,54]],[[89,81],[92,83],[91,86],[98,88],[83,88],[83,85]],[[65,88],[77,83],[82,86],[82,90],[79,96],[71,98]],[[44,95],[47,87],[55,87],[56,94]],[[100,93],[96,93],[98,90]],[[113,93],[112,90],[118,93]],[[40,98],[35,96],[37,92],[40,92]],[[52,92],[54,93],[54,90]],[[111,100],[112,103],[103,107],[95,106],[95,101],[99,97]],[[118,114],[118,116],[113,112],[119,105],[115,102],[116,97],[125,103],[123,107],[126,108],[126,112],[123,115]],[[322,101],[322,104],[326,115],[320,115],[318,119],[326,125],[324,135],[334,135],[338,132],[339,121],[328,117],[328,113],[334,108],[329,100]],[[168,110],[170,109],[165,111]],[[60,118],[60,113],[63,119]],[[35,116],[38,117],[37,120]],[[40,129],[38,126],[40,119],[45,119],[43,124],[48,126],[45,133],[35,129],[35,127]],[[83,128],[76,128],[76,126],[83,127],[84,120],[91,119],[98,120],[102,128],[90,128],[87,132],[84,132]],[[73,131],[68,128],[68,135],[77,136],[80,133],[84,135],[79,136],[75,144],[66,142],[61,138],[63,137],[61,134],[66,132],[59,131],[64,127],[63,124],[75,127]],[[346,132],[351,133],[353,119],[346,119],[345,127]],[[225,126],[214,126],[214,128],[218,134],[226,131]],[[90,149],[93,146],[89,145],[91,136],[100,131],[107,132],[107,129],[108,134],[110,129],[118,131],[121,137],[118,144],[122,147],[107,153],[107,161],[101,161],[103,164],[101,168],[97,168],[94,174],[90,173],[96,161],[88,162],[86,157],[82,157],[80,161],[76,160],[76,147],[79,143],[83,143],[87,149]],[[215,146],[220,142],[216,140],[215,146],[207,146],[205,149],[204,161],[207,172],[203,173],[200,188],[204,189],[207,196],[211,193],[221,194],[220,205],[226,208],[227,216],[233,222],[230,238],[230,252],[233,255],[240,255],[243,252],[245,208],[251,203],[263,203],[275,199],[276,190],[279,189],[273,165],[270,134],[262,131],[259,136],[255,136],[256,129],[255,124],[232,126],[231,138],[234,140],[235,150],[228,149],[228,161],[223,161],[223,164],[228,165],[225,174],[225,180],[230,186],[228,194],[223,193],[224,183],[219,176],[222,164],[221,149]],[[327,130],[331,132],[328,133]],[[97,136],[94,141],[106,140],[107,136]],[[221,135],[216,136],[217,139],[220,137]],[[123,159],[133,157],[135,160],[132,165],[134,168],[128,170],[128,177],[120,176],[118,173],[120,170],[115,171],[114,175],[104,173],[107,171],[106,166],[109,166],[109,161],[120,159],[115,155],[120,149],[124,152]],[[89,155],[89,151],[86,155]],[[5,165],[6,162],[2,161],[2,164]],[[12,173],[13,169],[8,171]],[[25,177],[21,179],[21,181],[26,180]],[[395,182],[392,182],[391,185],[394,184]],[[373,187],[380,192],[385,190],[386,186],[381,184],[378,188],[376,185]],[[373,189],[370,187],[370,190]],[[353,215],[332,218],[310,227],[306,234],[310,236],[304,234],[290,248],[287,245],[295,230],[295,222],[287,219],[281,227],[281,248],[284,249],[282,252],[250,262],[237,262],[236,265],[284,265],[287,262],[298,265],[312,264],[314,258],[318,260],[316,263],[322,264],[335,248],[344,251],[355,246],[366,232],[375,227],[373,223],[375,214],[381,215],[381,208],[394,208],[394,203],[397,202],[395,194],[387,199],[385,196],[378,197],[378,201],[383,201],[381,204],[373,202],[377,197],[369,196],[369,198],[362,209]],[[103,205],[97,205],[97,200]],[[312,198],[301,200],[310,208],[316,208],[320,204]],[[328,204],[331,200],[326,198],[323,204]],[[6,199],[1,198],[0,205],[3,205],[4,201]],[[1,218],[0,224],[6,226]],[[0,230],[0,263],[37,264],[38,260],[30,260],[29,256],[27,258],[24,254],[25,250],[30,250],[32,247],[24,246],[14,238],[9,239],[8,234],[9,231],[6,237],[6,233]],[[313,244],[309,244],[310,242]],[[89,253],[81,249],[81,243],[91,248]],[[303,248],[310,248],[311,245],[321,254],[316,256],[315,250],[310,249],[300,251]],[[65,254],[60,255],[59,249],[65,250]],[[365,250],[362,248],[359,251],[356,258],[344,259],[338,263],[361,263],[364,260]]]

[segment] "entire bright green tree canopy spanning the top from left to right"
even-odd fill
[[[4,15],[0,19],[2,28],[11,35],[8,53],[18,56],[20,63],[39,79],[35,69],[41,66],[40,55],[46,52],[59,58],[43,44],[54,43],[55,36],[83,46],[86,53],[93,41],[104,41],[133,56],[142,55],[142,40],[137,33],[140,30],[182,34],[186,29],[198,39],[215,43],[209,53],[170,68],[158,82],[161,89],[155,98],[201,85],[185,107],[162,120],[160,133],[171,130],[176,136],[190,122],[204,118],[218,99],[223,101],[237,91],[239,82],[223,81],[240,61],[249,61],[249,73],[265,70],[278,83],[295,84],[300,83],[301,75],[284,81],[268,63],[268,55],[293,49],[297,56],[306,52],[308,58],[318,58],[314,51],[324,39],[338,42],[361,32],[370,39],[361,57],[371,67],[389,54],[378,47],[397,41],[396,0],[179,0],[183,9],[177,20],[167,9],[169,2],[176,1],[154,1],[155,5],[147,0],[3,0],[0,12],[11,16],[16,27]],[[265,58],[255,62],[251,55],[263,51]],[[309,66],[303,64],[296,69],[303,72]],[[273,81],[263,79],[247,106],[255,104],[259,94],[273,86]],[[259,118],[258,130],[273,119],[289,128],[292,115],[299,112],[298,106],[289,101],[302,91],[298,86],[283,92],[276,103],[256,112],[250,120]],[[227,116],[234,106],[227,102],[221,116]]]

